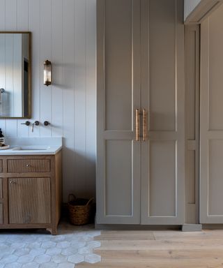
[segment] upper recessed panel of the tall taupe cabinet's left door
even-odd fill
[[[132,1],[105,4],[106,129],[132,129]]]

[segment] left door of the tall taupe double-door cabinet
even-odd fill
[[[97,223],[140,222],[140,1],[97,2]]]

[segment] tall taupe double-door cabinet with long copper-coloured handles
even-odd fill
[[[97,5],[96,221],[183,224],[183,1]]]

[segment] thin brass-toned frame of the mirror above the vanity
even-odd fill
[[[31,52],[31,31],[0,31],[0,34],[29,34],[29,105],[28,105],[28,115],[26,117],[0,117],[0,119],[31,119],[31,110],[32,110],[32,105],[31,105],[31,101],[32,101],[32,91],[31,91],[31,78],[32,78],[32,74],[31,74],[31,65],[32,65],[32,52]]]

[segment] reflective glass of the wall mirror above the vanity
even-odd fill
[[[31,116],[30,35],[0,32],[0,117]]]

